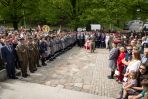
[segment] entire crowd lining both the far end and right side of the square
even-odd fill
[[[148,35],[103,32],[80,32],[79,47],[89,52],[95,48],[109,49],[108,79],[122,84],[117,99],[148,99]]]

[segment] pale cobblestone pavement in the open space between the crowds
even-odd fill
[[[21,80],[115,98],[121,85],[107,79],[108,74],[108,50],[89,53],[74,47]]]

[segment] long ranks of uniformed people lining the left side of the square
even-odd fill
[[[22,77],[26,78],[38,67],[46,66],[47,61],[53,61],[71,49],[75,43],[75,32],[5,31],[0,34],[0,67],[6,68],[10,79],[18,79],[16,69],[20,69]]]

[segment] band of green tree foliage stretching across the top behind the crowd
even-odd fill
[[[44,21],[73,28],[100,23],[123,28],[140,17],[148,19],[146,0],[1,0],[0,19]],[[137,12],[137,9],[140,9]],[[17,17],[17,18],[14,18]],[[110,27],[111,28],[111,27]]]

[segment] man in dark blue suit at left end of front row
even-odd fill
[[[14,50],[10,45],[10,40],[5,41],[5,46],[1,49],[2,59],[6,66],[7,75],[11,79],[17,79],[15,75],[15,65],[14,65]]]

